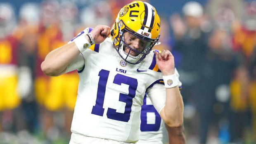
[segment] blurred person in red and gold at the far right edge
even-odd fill
[[[231,107],[234,115],[241,118],[232,121],[235,128],[231,130],[232,141],[245,139],[245,128],[250,125],[247,121],[252,120],[255,125],[255,101],[251,100],[254,100],[253,91],[255,91],[252,88],[254,87],[256,61],[256,0],[244,2],[242,6],[244,10],[241,21],[232,27],[233,50],[241,56],[242,61],[242,67],[237,71],[237,76],[231,85]],[[252,119],[248,116],[249,108],[251,108]]]

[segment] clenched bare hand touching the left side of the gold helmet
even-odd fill
[[[94,39],[95,44],[100,44],[109,36],[110,27],[97,25],[90,33],[92,34],[92,38]]]

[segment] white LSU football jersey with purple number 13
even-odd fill
[[[107,38],[101,44],[92,45],[82,55],[85,64],[78,71],[80,82],[71,132],[137,142],[145,92],[150,93],[155,84],[165,90],[154,51],[139,64],[128,64],[116,52],[112,40]],[[69,67],[72,64],[76,65],[76,62]],[[149,97],[160,113],[166,94],[160,94],[160,97],[149,94]]]

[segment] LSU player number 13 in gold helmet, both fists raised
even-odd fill
[[[152,51],[159,31],[155,8],[134,1],[121,9],[111,31],[102,25],[86,28],[45,57],[41,68],[48,76],[78,70],[70,144],[137,142],[146,92],[166,124],[183,124],[173,55]]]

